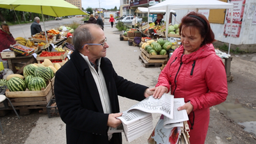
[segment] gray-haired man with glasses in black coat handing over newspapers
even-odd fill
[[[79,26],[73,35],[75,51],[56,72],[54,90],[67,144],[120,144],[121,133],[108,136],[122,122],[118,95],[141,101],[152,91],[118,76],[106,58],[104,31],[97,24]]]

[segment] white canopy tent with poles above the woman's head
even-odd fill
[[[148,8],[147,13],[149,14],[151,10],[166,10],[166,12],[170,10],[209,10],[209,9],[231,9],[231,13],[233,13],[233,4],[225,3],[223,1],[217,0],[166,0],[161,3],[157,3],[154,6],[150,6]],[[168,31],[168,19],[170,17],[170,13],[166,13],[166,31]],[[230,27],[232,28],[232,19],[233,15],[231,15],[230,19]],[[230,29],[231,33],[232,29]],[[167,38],[167,34],[166,34]],[[228,54],[230,54],[230,45],[228,48]]]

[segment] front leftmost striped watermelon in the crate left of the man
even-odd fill
[[[7,86],[11,92],[26,90],[25,81],[19,77],[12,77],[9,79]]]

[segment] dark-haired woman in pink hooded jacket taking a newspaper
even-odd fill
[[[227,77],[221,58],[214,51],[214,33],[207,18],[191,12],[179,26],[182,45],[175,49],[159,75],[154,97],[170,93],[184,97],[189,115],[191,144],[203,144],[209,125],[209,107],[227,97]]]

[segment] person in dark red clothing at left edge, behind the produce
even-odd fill
[[[12,33],[10,33],[8,24],[1,24],[0,29],[0,52],[3,51],[3,49],[8,49],[10,45],[15,45],[16,41],[13,38]],[[2,60],[0,58],[0,61],[3,62],[3,67],[7,68],[7,61]]]

